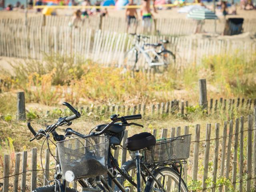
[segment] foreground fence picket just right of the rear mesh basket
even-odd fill
[[[196,125],[196,138],[194,144],[194,161],[193,161],[193,177],[192,180],[197,180],[198,172],[198,156],[199,156],[199,140],[200,140],[200,125]]]

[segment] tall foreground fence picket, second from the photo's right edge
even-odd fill
[[[248,145],[247,145],[247,191],[251,191],[252,179],[252,115],[248,115]]]

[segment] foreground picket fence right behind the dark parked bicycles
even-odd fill
[[[254,126],[253,126],[254,124]],[[223,128],[221,128],[221,126]],[[256,107],[253,115],[248,115],[247,123],[241,116],[235,120],[225,121],[223,124],[216,123],[214,128],[212,124],[207,124],[206,129],[200,124],[194,127],[185,126],[184,131],[181,127],[164,128],[162,131],[153,130],[152,134],[156,138],[169,138],[183,134],[192,134],[190,143],[190,157],[187,164],[184,165],[183,179],[190,184],[196,180],[200,183],[202,191],[227,191],[234,188],[237,191],[252,191],[256,184]],[[206,133],[204,132],[206,130]],[[223,131],[221,136],[220,131]],[[138,131],[137,131],[138,132]],[[205,134],[204,134],[205,133]],[[128,136],[134,134],[131,130],[125,131],[122,145]],[[253,139],[252,139],[253,137]],[[122,151],[122,152],[121,152]],[[3,192],[14,192],[20,189],[22,192],[30,191],[38,186],[47,184],[50,179],[49,170],[54,169],[50,165],[49,150],[46,149],[44,154],[44,166],[46,178],[42,178],[42,170],[38,170],[37,149],[33,148],[31,158],[28,160],[28,152],[17,153],[15,160],[11,161],[10,155],[4,155],[4,175]],[[241,155],[242,154],[242,155]],[[57,155],[58,156],[58,155]],[[123,164],[130,157],[127,155],[125,148],[117,148],[114,151],[115,158],[119,158],[120,164]],[[121,159],[120,159],[121,157]],[[57,158],[58,161],[58,158]],[[29,169],[27,167],[29,165]],[[11,172],[10,172],[11,170]],[[38,174],[41,172],[40,178]],[[27,177],[29,174],[29,181]],[[19,176],[21,176],[19,181]],[[9,178],[14,179],[13,185],[10,184]],[[225,182],[220,182],[221,178],[227,178]],[[209,182],[209,180],[211,182]],[[192,181],[192,182],[191,182]],[[76,188],[76,183],[72,184]]]

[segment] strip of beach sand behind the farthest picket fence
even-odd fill
[[[178,13],[179,8],[172,8],[171,10],[158,10],[158,13],[154,14],[155,18],[186,18],[185,13]],[[65,9],[65,10],[57,10],[58,15],[71,15],[73,10]],[[115,17],[124,17],[124,10],[113,10],[109,9],[109,16]],[[216,12],[218,14],[218,12]],[[40,13],[35,13],[35,10],[28,10],[28,17],[38,16]],[[237,15],[228,15],[227,18],[230,17],[242,17],[242,18],[256,18],[256,10],[240,10],[237,8]],[[24,18],[24,10],[14,10],[14,11],[0,11],[0,18]],[[219,18],[223,18],[219,16]]]

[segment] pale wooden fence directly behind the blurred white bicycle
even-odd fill
[[[134,39],[126,33],[93,31],[64,26],[0,24],[0,56],[42,59],[45,54],[60,54],[91,59],[104,66],[124,66],[125,53]],[[200,64],[215,54],[236,54],[245,61],[255,59],[256,42],[213,40],[173,36],[150,36],[148,43],[168,39],[166,48],[176,55],[176,67]],[[100,57],[99,57],[100,55]],[[143,63],[140,68],[143,68]]]

